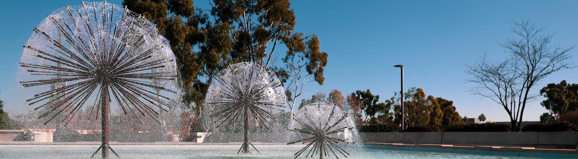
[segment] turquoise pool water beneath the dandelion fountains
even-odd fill
[[[303,145],[255,145],[261,153],[236,154],[240,145],[112,145],[123,158],[293,158]],[[0,158],[88,158],[95,145],[25,145],[0,147]],[[348,146],[349,158],[544,158],[539,153],[519,154],[479,150],[417,147]],[[95,157],[99,157],[99,153]],[[542,154],[543,155],[543,154]],[[551,154],[549,154],[550,157]],[[572,156],[558,156],[568,158]],[[114,154],[111,154],[112,158]],[[344,158],[343,156],[338,156]],[[555,156],[554,156],[555,157]],[[305,158],[305,156],[299,156]],[[335,158],[334,156],[327,158]]]

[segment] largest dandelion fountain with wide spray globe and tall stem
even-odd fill
[[[176,93],[168,41],[144,17],[106,1],[66,6],[47,16],[24,46],[20,67],[25,71],[20,83],[34,92],[27,102],[46,110],[38,117],[45,124],[58,119],[66,125],[84,105],[101,115],[97,152],[102,150],[103,158],[109,149],[118,156],[108,144],[111,105],[125,115],[156,120]]]

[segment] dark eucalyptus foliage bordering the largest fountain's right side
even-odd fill
[[[142,14],[147,20],[157,25],[158,31],[171,44],[171,49],[175,54],[177,64],[180,65],[180,83],[183,86],[184,101],[186,103],[202,103],[204,99],[203,90],[206,90],[205,82],[198,80],[204,68],[199,59],[206,54],[199,54],[195,50],[200,47],[211,46],[207,41],[207,34],[214,33],[213,30],[201,27],[203,25],[212,26],[208,22],[208,16],[200,9],[196,10],[192,5],[192,0],[185,1],[147,1],[147,0],[126,0],[123,5],[135,13]],[[169,16],[169,14],[171,14]],[[203,52],[206,53],[206,52]],[[214,62],[214,61],[211,61]],[[211,63],[214,66],[217,63]]]

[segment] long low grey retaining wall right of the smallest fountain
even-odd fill
[[[507,145],[575,149],[578,132],[360,133],[364,142],[447,145]]]

